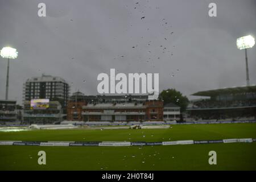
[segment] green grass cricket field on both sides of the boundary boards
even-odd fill
[[[143,130],[32,130],[0,133],[0,140],[172,141],[256,138],[256,123],[174,125]],[[46,165],[38,151],[46,151]],[[208,152],[217,152],[209,165]],[[42,147],[0,146],[0,170],[255,170],[256,143],[176,146]]]

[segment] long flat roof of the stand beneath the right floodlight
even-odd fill
[[[193,93],[191,94],[191,96],[212,97],[212,96],[219,96],[221,94],[246,93],[246,92],[256,92],[256,85],[206,90],[206,91]]]

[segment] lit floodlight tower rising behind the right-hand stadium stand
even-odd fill
[[[254,46],[254,44],[255,44],[255,40],[254,40],[253,36],[251,36],[251,35],[242,36],[241,38],[237,39],[237,48],[240,50],[245,49],[246,86],[250,86],[247,48],[252,48]]]

